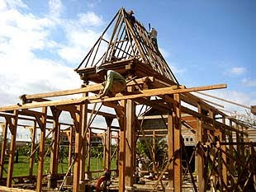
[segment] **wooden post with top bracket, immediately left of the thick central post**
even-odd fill
[[[119,191],[125,191],[126,186],[126,101],[121,101],[124,110],[117,111],[120,126],[119,144]]]

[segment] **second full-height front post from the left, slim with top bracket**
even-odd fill
[[[45,128],[46,128],[46,116],[47,116],[47,107],[43,107],[42,112],[44,115],[41,116],[38,120],[40,124],[40,143],[39,143],[39,160],[38,160],[38,171],[37,171],[37,182],[36,182],[36,191],[41,192],[42,183],[43,183],[43,173],[44,173],[44,156],[45,156]]]

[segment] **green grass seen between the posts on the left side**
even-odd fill
[[[5,169],[8,169],[8,164],[5,162]],[[34,163],[33,175],[37,174],[38,163]],[[91,158],[91,171],[103,170],[103,161],[102,159]],[[68,159],[64,159],[64,162],[59,163],[58,172],[66,173],[69,169]],[[111,169],[116,169],[116,160],[113,159],[111,162]],[[50,157],[45,158],[44,162],[44,174],[48,174],[50,170]],[[29,157],[19,156],[19,162],[14,162],[13,175],[12,176],[28,176],[29,175]],[[7,173],[4,171],[3,177],[6,177]],[[97,177],[98,174],[92,174],[93,177]]]

